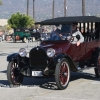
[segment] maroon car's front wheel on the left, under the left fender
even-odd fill
[[[18,64],[11,61],[7,67],[7,79],[12,85],[20,85],[23,81],[23,75],[19,71]]]

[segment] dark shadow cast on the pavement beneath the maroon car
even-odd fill
[[[0,71],[0,72],[6,73],[7,71],[4,70],[4,71]],[[84,73],[71,72],[70,82],[73,82],[80,78],[87,79],[87,80],[100,81],[100,79],[95,78],[94,74],[85,73],[85,72]],[[0,86],[3,86],[3,85],[9,85],[8,80],[0,80]],[[39,86],[40,88],[44,88],[44,89],[57,90],[55,78],[40,79],[40,78],[25,77],[22,85],[24,85],[24,86]]]

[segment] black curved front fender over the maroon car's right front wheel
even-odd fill
[[[69,55],[59,54],[53,59],[53,61],[55,63],[58,63],[61,61],[62,58],[66,58],[68,60],[71,71],[74,72],[78,71],[75,63],[73,62],[72,58]]]

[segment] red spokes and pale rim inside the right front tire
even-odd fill
[[[69,80],[68,64],[66,62],[63,62],[60,68],[60,82],[63,86],[65,86],[68,83],[68,80]]]

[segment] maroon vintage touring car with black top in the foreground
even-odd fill
[[[41,25],[72,24],[77,22],[84,36],[79,46],[70,40],[40,41],[29,51],[21,48],[19,53],[7,56],[7,78],[10,84],[20,85],[24,77],[55,77],[58,89],[66,89],[70,72],[94,68],[100,78],[100,18],[95,16],[59,17],[37,22]],[[83,31],[84,29],[84,31]]]

